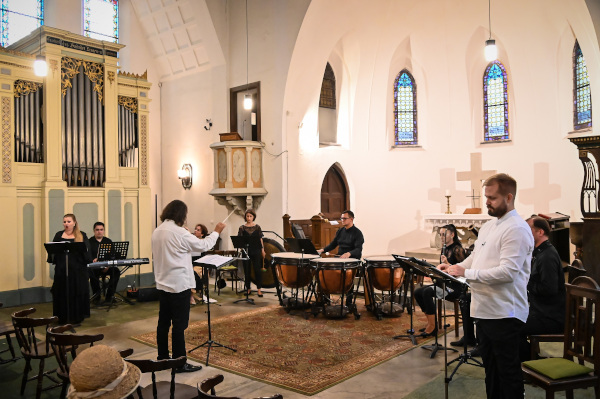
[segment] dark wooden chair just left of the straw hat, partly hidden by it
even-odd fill
[[[52,327],[48,329],[48,341],[56,356],[58,368],[56,375],[62,380],[62,389],[60,397],[65,398],[67,395],[67,387],[69,386],[69,352],[71,353],[71,361],[77,356],[77,349],[80,345],[94,346],[94,342],[104,339],[103,334],[83,335],[83,334],[67,334],[67,331],[72,331],[73,326],[65,324],[64,326]]]

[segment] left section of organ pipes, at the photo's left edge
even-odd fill
[[[15,162],[44,162],[42,90],[41,83],[15,81]]]

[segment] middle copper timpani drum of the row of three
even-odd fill
[[[360,318],[356,309],[356,299],[352,301],[354,278],[362,263],[353,258],[319,258],[310,263],[316,268],[319,311],[325,317],[342,318],[352,312],[355,319]],[[333,305],[331,295],[339,295],[339,305]],[[317,308],[313,309],[317,313]]]

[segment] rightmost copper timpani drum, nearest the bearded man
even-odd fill
[[[365,258],[365,295],[369,306],[377,319],[382,316],[398,316],[402,306],[398,303],[400,295],[397,291],[404,281],[404,269],[393,256],[370,256]],[[376,291],[379,291],[377,294]]]

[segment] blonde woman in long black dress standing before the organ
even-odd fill
[[[90,316],[90,289],[87,264],[92,262],[90,242],[86,234],[79,230],[77,219],[72,213],[63,217],[64,230],[57,232],[52,241],[83,242],[85,253],[69,254],[69,279],[67,281],[66,257],[64,254],[49,255],[48,262],[54,263],[54,283],[52,284],[52,308],[61,324],[81,323]],[[68,306],[67,306],[68,284]],[[67,308],[68,314],[67,314]]]

